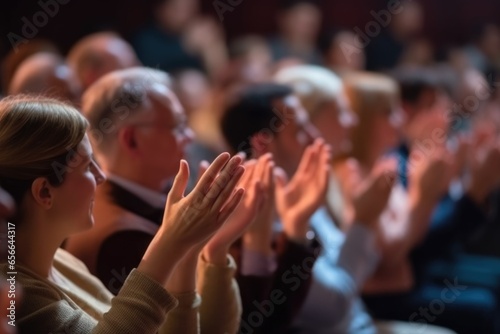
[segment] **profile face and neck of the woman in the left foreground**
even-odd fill
[[[87,135],[77,147],[77,152],[68,161],[68,169],[64,173],[64,181],[53,187],[53,210],[61,228],[67,234],[84,231],[94,223],[93,206],[97,185],[105,180],[101,169],[92,156],[92,147]],[[71,222],[71,224],[69,224]]]

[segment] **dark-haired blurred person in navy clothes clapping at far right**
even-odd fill
[[[420,207],[420,227],[409,226],[424,233],[412,235],[417,238],[410,257],[413,283],[398,291],[391,291],[391,286],[385,291],[367,290],[365,302],[378,318],[410,317],[410,321],[421,322],[424,315],[418,312],[419,307],[432,305],[434,300],[444,302],[443,291],[453,284],[460,293],[453,294],[453,302],[447,302],[439,314],[427,314],[425,324],[460,333],[496,333],[498,287],[492,283],[498,282],[498,263],[458,258],[457,247],[484,220],[481,203],[498,184],[498,177],[488,170],[500,168],[494,158],[500,152],[491,145],[483,153],[476,151],[469,157],[470,182],[461,193],[449,192],[451,181],[464,169],[466,160],[461,155],[467,149],[464,141],[455,149],[447,145],[449,98],[435,75],[426,69],[399,70],[395,77],[406,120],[402,126],[404,142],[397,150],[399,176],[410,202],[416,201]],[[483,182],[479,176],[482,173],[491,175],[489,182]]]

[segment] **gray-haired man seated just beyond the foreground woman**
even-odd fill
[[[96,193],[95,228],[71,237],[66,247],[115,294],[162,223],[164,190],[192,139],[169,86],[164,72],[130,68],[105,75],[82,99],[89,137],[107,181]],[[186,254],[176,268],[167,286],[179,307],[161,333],[236,332],[241,303],[233,280],[236,265],[224,240],[238,236],[224,239],[222,232],[203,250]]]

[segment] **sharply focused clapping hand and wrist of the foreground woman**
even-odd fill
[[[181,160],[165,205],[163,223],[137,268],[165,284],[177,263],[191,249],[202,247],[236,209],[244,190],[235,191],[243,175],[242,158],[222,153],[208,167],[193,191],[184,196],[189,179]]]

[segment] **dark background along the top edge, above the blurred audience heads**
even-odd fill
[[[0,12],[0,52],[4,55],[11,48],[7,38],[9,32],[21,35],[26,17],[33,22],[33,15],[42,10],[39,1],[56,0],[2,0]],[[61,0],[62,1],[62,0]],[[157,0],[64,0],[59,12],[49,18],[36,37],[54,41],[66,52],[80,37],[108,28],[128,37],[134,30],[148,21],[154,2]],[[218,19],[213,0],[201,0],[203,11]],[[227,2],[228,0],[221,0]],[[323,0],[319,1],[324,14],[323,25],[328,27],[359,27],[374,20],[370,11],[386,8],[385,1],[377,0]],[[425,35],[436,48],[463,44],[475,27],[484,22],[500,24],[499,0],[420,0],[425,12]],[[276,29],[278,0],[242,0],[232,12],[224,13],[220,22],[228,39],[241,34],[272,34]]]

